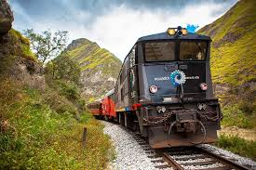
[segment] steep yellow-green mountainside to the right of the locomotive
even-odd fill
[[[212,38],[211,72],[222,103],[245,100],[256,108],[256,1],[241,0],[198,31]],[[232,100],[230,100],[232,98]]]

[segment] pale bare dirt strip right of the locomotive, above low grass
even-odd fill
[[[245,138],[246,140],[256,141],[256,128],[243,129],[236,126],[222,126],[222,130],[218,131],[218,135],[232,135]]]

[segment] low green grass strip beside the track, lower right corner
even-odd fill
[[[247,141],[237,136],[221,135],[215,145],[256,161],[256,141]]]

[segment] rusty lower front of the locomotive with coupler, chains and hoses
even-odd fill
[[[217,100],[204,103],[147,105],[117,112],[119,124],[138,131],[154,148],[193,146],[217,140],[222,113]]]

